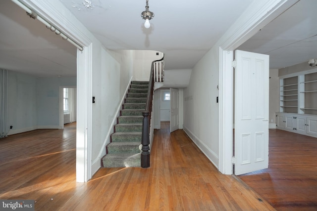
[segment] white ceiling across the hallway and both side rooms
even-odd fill
[[[255,0],[60,0],[108,49],[157,50],[165,69],[191,69]],[[270,55],[278,69],[317,58],[316,0],[300,0],[238,49]],[[0,1],[0,68],[37,77],[75,76],[76,48],[10,0]],[[5,30],[3,30],[5,29]]]

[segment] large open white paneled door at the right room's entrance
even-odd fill
[[[235,174],[268,167],[269,56],[236,50]]]

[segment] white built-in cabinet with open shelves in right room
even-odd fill
[[[317,71],[280,79],[276,128],[317,137]]]

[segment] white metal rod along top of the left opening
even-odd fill
[[[12,0],[14,3],[16,3],[18,6],[20,6],[22,9],[24,9],[27,13],[27,15],[29,15],[31,18],[33,19],[38,19],[40,22],[42,22],[44,25],[46,25],[46,28],[50,29],[52,32],[55,32],[56,35],[60,35],[63,40],[68,41],[70,43],[72,43],[73,45],[75,45],[79,50],[83,50],[84,48],[82,46],[80,46],[78,43],[76,43],[75,41],[71,40],[70,38],[68,38],[66,35],[64,35],[61,31],[59,31],[58,29],[56,29],[52,24],[50,24],[49,22],[47,22],[46,20],[44,20],[41,16],[39,16],[37,13],[35,13],[34,11],[32,11],[30,8],[28,8],[26,5],[24,5],[23,3],[21,3],[19,0]]]

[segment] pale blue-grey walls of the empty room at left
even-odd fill
[[[36,78],[8,71],[8,135],[59,127],[59,86],[76,85],[76,77]]]

